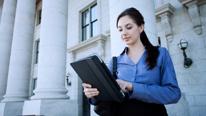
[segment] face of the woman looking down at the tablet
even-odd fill
[[[128,46],[134,45],[140,40],[140,34],[144,29],[143,25],[138,26],[134,20],[127,15],[119,19],[117,26],[122,40]]]

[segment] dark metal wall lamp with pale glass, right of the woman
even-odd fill
[[[189,68],[192,65],[192,59],[188,58],[186,55],[185,50],[187,49],[188,42],[184,39],[180,40],[180,43],[178,43],[179,48],[183,51],[184,56],[184,67]]]

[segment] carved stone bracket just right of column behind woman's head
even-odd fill
[[[171,26],[171,16],[174,14],[175,8],[170,4],[164,4],[155,10],[157,19],[160,19],[161,27],[164,30],[167,41],[173,39],[173,31]]]

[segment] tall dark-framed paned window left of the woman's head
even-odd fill
[[[82,41],[97,34],[99,34],[97,4],[93,4],[82,12]]]

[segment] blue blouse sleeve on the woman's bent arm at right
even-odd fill
[[[174,66],[168,51],[164,48],[160,50],[163,52],[160,84],[143,84],[132,83],[133,92],[130,98],[139,99],[149,103],[170,104],[176,103],[180,97],[181,92],[176,80]]]

